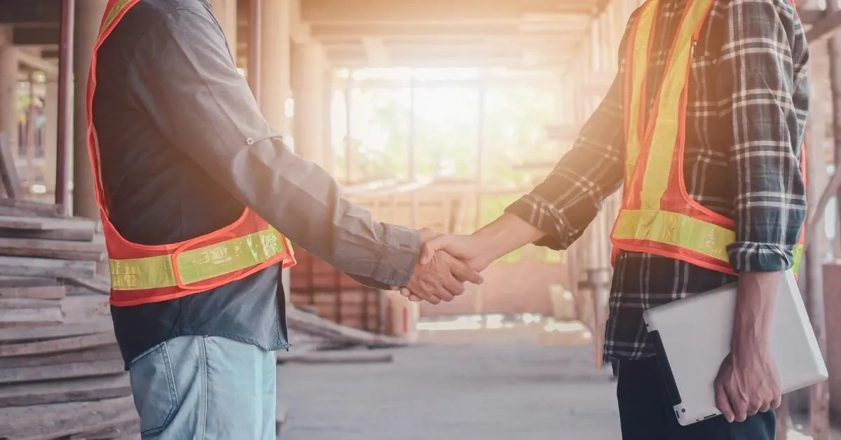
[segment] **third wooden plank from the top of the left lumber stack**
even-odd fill
[[[0,254],[98,262],[105,257],[105,247],[100,243],[84,241],[0,237]]]

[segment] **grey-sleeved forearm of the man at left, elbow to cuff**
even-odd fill
[[[366,209],[341,197],[338,183],[278,140],[240,151],[229,188],[271,225],[341,272],[385,285],[408,282],[421,238],[417,231],[378,222]]]

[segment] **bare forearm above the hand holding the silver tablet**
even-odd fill
[[[771,318],[780,272],[746,272],[738,278],[733,355],[741,357],[769,349]]]

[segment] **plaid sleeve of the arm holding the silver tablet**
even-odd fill
[[[809,105],[805,35],[789,0],[730,2],[718,58],[730,155],[737,272],[791,268],[807,215],[801,151]]]

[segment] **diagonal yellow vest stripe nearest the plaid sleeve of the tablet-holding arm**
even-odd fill
[[[690,2],[678,30],[671,63],[666,66],[663,84],[660,87],[659,108],[648,144],[648,161],[640,193],[641,209],[659,209],[660,199],[663,199],[663,194],[669,186],[672,157],[680,132],[680,97],[686,87],[686,74],[690,69],[693,35],[698,24],[706,18],[711,2],[712,0]]]

